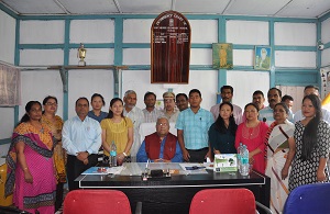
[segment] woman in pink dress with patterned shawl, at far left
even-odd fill
[[[14,128],[7,155],[6,196],[30,213],[54,214],[56,180],[53,161],[53,136],[41,123],[42,105],[30,101],[26,113]]]

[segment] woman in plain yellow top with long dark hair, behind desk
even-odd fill
[[[110,146],[114,142],[117,164],[122,165],[133,144],[133,123],[123,115],[123,102],[120,98],[111,100],[109,114],[101,121],[101,127],[105,155],[109,156]]]

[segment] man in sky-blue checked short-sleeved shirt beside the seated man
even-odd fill
[[[215,120],[211,112],[200,108],[201,100],[198,89],[190,90],[190,108],[179,113],[175,124],[185,161],[204,162],[210,157],[208,132]]]

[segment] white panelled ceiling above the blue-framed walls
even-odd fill
[[[330,0],[0,0],[19,15],[221,14],[274,18],[319,18]]]

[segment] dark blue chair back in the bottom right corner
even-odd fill
[[[300,185],[289,193],[283,213],[330,213],[329,199],[330,183]]]

